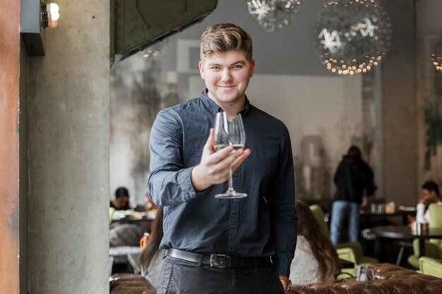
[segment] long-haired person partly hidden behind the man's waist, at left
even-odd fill
[[[162,207],[158,207],[149,240],[138,258],[141,266],[141,275],[154,287],[157,286],[158,278],[160,278],[162,257],[164,256],[164,250],[160,250],[160,242],[163,235],[162,216]]]

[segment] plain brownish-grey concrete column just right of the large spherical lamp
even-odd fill
[[[391,48],[381,63],[382,196],[387,201],[412,206],[416,204],[418,185],[414,0],[382,4],[393,30]]]

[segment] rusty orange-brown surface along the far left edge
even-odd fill
[[[18,293],[20,1],[0,7],[0,293]]]

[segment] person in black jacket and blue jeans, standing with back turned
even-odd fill
[[[371,168],[361,157],[361,150],[351,146],[335,172],[336,193],[332,207],[330,238],[334,245],[341,241],[343,225],[347,217],[348,239],[359,240],[359,208],[365,207],[376,191]]]

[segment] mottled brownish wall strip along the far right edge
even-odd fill
[[[416,68],[418,105],[418,170],[420,185],[436,180],[442,188],[442,73],[431,64],[430,56],[442,38],[442,1],[419,0],[416,4]],[[432,110],[432,111],[431,111]],[[438,111],[437,111],[438,110]],[[434,146],[436,145],[436,146]]]

